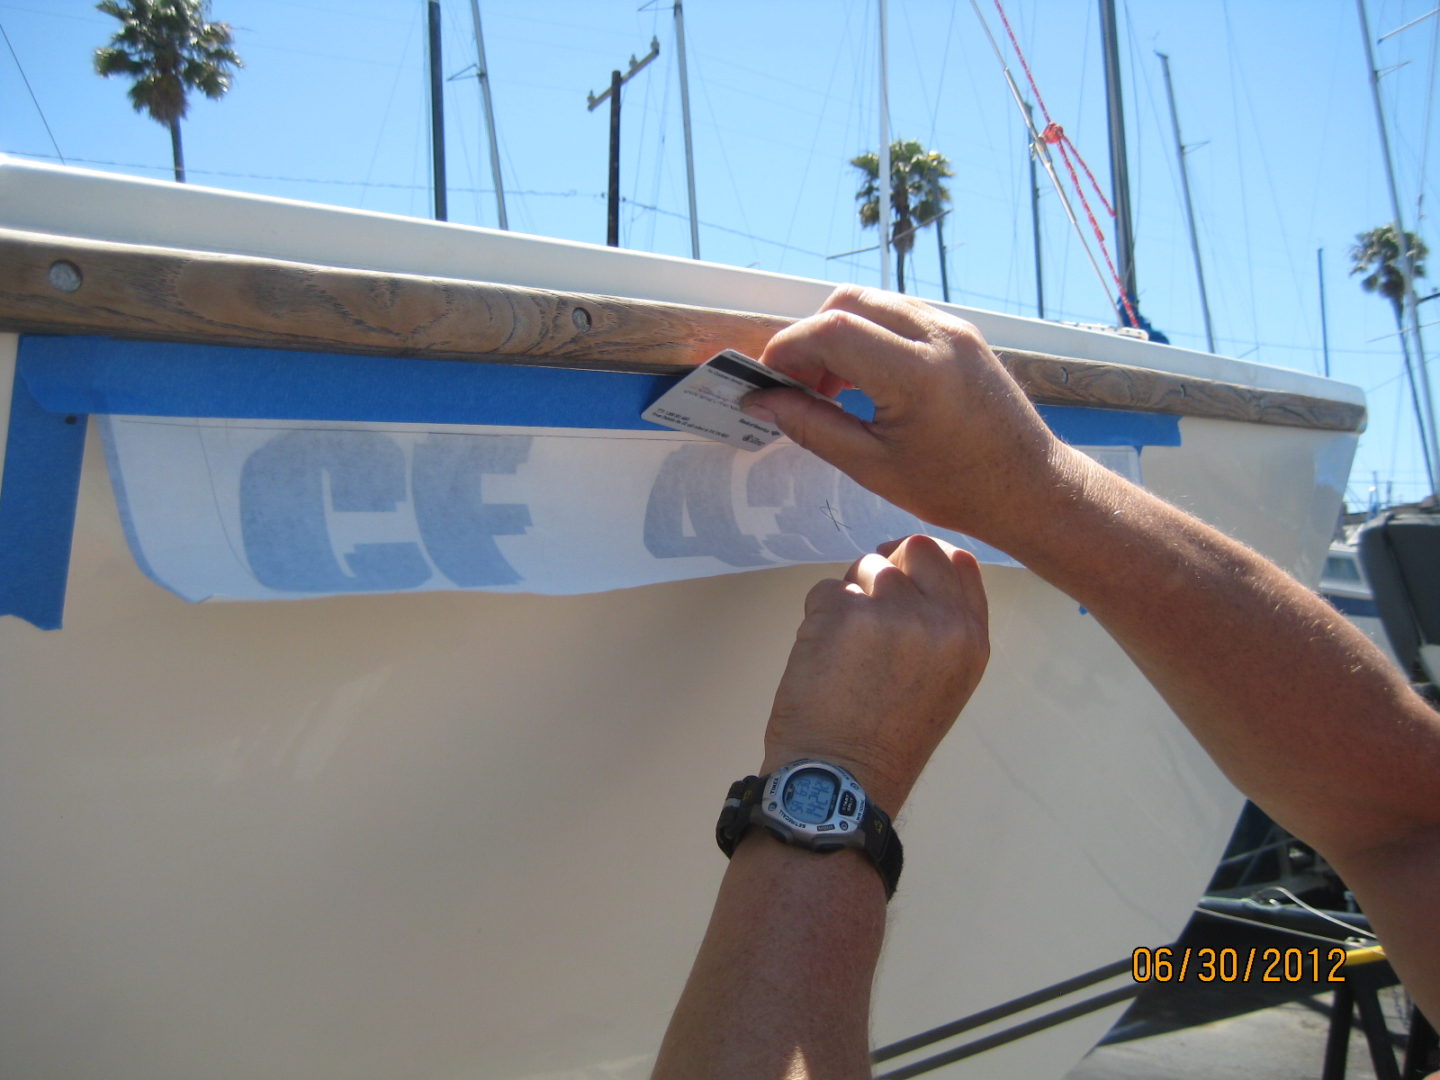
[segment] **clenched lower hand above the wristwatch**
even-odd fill
[[[975,557],[924,536],[883,544],[805,598],[763,772],[819,757],[854,773],[894,815],[988,658]]]

